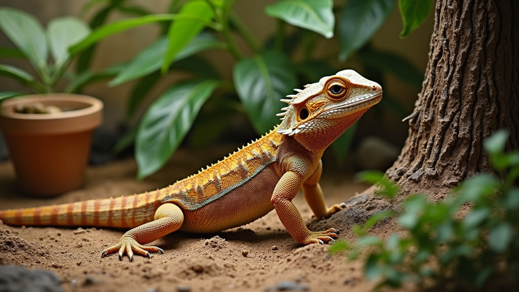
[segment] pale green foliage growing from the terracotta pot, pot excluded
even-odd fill
[[[61,91],[63,79],[69,78],[69,86],[64,92],[75,92],[94,79],[113,77],[118,72],[117,67],[99,72],[95,77],[85,78],[86,75],[71,75],[66,72],[74,56],[69,47],[87,37],[91,30],[83,20],[72,17],[52,19],[47,29],[32,15],[9,7],[0,7],[0,30],[9,37],[17,49],[0,48],[0,57],[16,57],[26,59],[32,65],[36,76],[9,64],[0,64],[0,75],[15,79],[29,91],[0,92],[0,100],[26,94],[29,92],[47,93]]]

